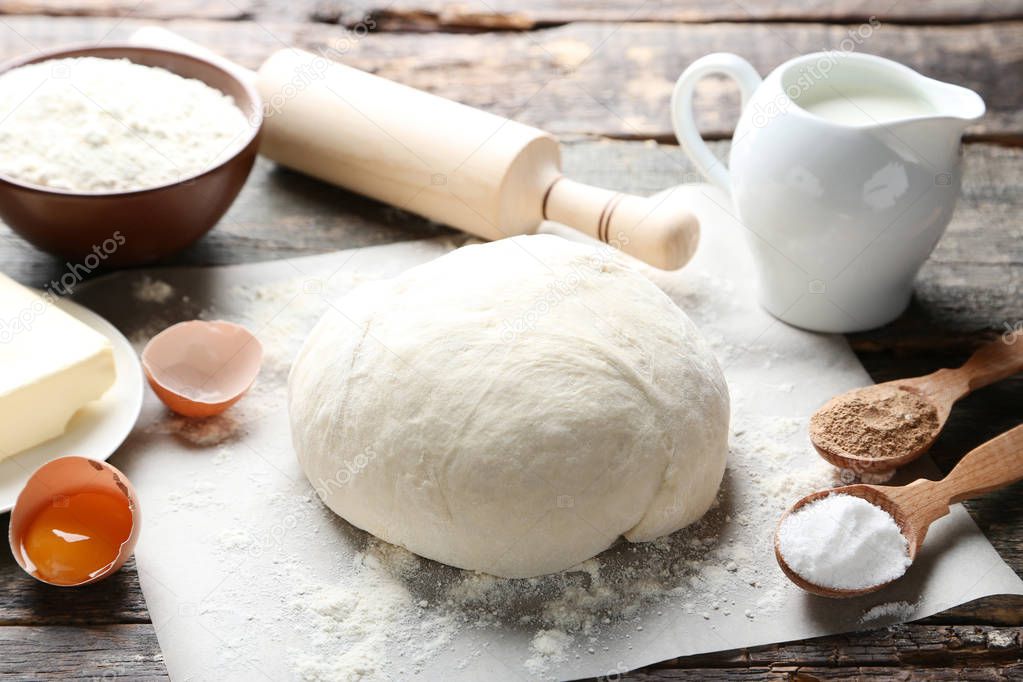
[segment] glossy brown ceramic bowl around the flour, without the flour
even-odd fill
[[[262,131],[256,89],[216,64],[180,52],[109,45],[72,47],[8,61],[0,73],[63,57],[126,58],[194,78],[234,98],[251,123],[248,139],[218,166],[146,189],[82,194],[0,174],[0,218],[39,248],[73,264],[140,265],[170,256],[206,234],[224,215],[252,171]]]

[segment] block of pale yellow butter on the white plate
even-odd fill
[[[51,301],[0,274],[0,459],[63,434],[117,378],[106,336]]]

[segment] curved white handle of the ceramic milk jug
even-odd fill
[[[675,136],[686,155],[693,160],[704,177],[730,192],[731,177],[723,162],[717,160],[704,142],[693,118],[693,93],[697,83],[714,74],[728,76],[739,83],[743,107],[760,85],[760,76],[749,61],[738,54],[715,52],[694,61],[682,72],[671,94],[671,123]]]

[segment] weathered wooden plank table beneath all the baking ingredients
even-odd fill
[[[0,56],[115,42],[153,21],[249,66],[282,46],[332,47],[355,66],[559,133],[573,175],[644,192],[697,179],[670,146],[667,117],[690,61],[732,51],[765,74],[851,39],[856,50],[977,90],[989,112],[968,131],[964,196],[911,308],[849,342],[881,381],[961,362],[981,342],[1023,329],[1023,0],[0,0]],[[710,136],[727,139],[737,107],[725,82],[701,88]],[[715,146],[727,150],[726,141]],[[261,161],[216,230],[171,263],[270,260],[444,232]],[[64,267],[0,227],[0,271],[41,286]],[[939,466],[1019,423],[1021,399],[1017,377],[964,401],[933,450]],[[968,505],[1018,573],[1019,493]],[[984,599],[910,625],[679,658],[630,677],[1023,679],[1021,626],[1023,600]],[[133,565],[62,591],[27,578],[2,552],[0,677],[165,676]]]

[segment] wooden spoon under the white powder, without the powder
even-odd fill
[[[920,479],[907,486],[859,484],[807,495],[782,515],[774,532],[774,557],[789,580],[807,592],[824,597],[854,597],[875,592],[894,581],[857,590],[833,589],[814,585],[793,571],[782,556],[780,548],[779,535],[786,517],[804,505],[829,495],[860,497],[892,515],[909,544],[909,560],[913,561],[917,558],[927,529],[948,513],[949,505],[1017,481],[1023,481],[1023,424],[970,451],[941,481]]]

